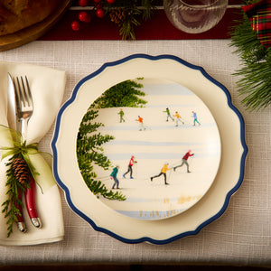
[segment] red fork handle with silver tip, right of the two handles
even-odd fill
[[[26,210],[28,212],[28,215],[33,223],[33,225],[36,228],[41,228],[42,223],[39,219],[38,212],[36,210],[36,204],[35,204],[35,181],[33,177],[31,176],[29,178],[29,188],[26,188],[24,192],[24,200],[25,200],[25,206]]]

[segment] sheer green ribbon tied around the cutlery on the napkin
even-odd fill
[[[8,156],[21,154],[24,161],[33,175],[33,179],[45,192],[56,182],[51,173],[51,166],[44,159],[45,155],[51,155],[38,151],[38,144],[26,145],[20,132],[0,125],[0,149],[2,150],[2,160]]]

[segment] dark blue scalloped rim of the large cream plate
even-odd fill
[[[241,156],[241,161],[240,161],[240,173],[239,173],[239,178],[238,178],[238,182],[236,183],[236,185],[227,193],[224,204],[222,206],[222,208],[212,217],[210,217],[210,219],[204,221],[201,223],[201,225],[199,225],[197,227],[197,229],[194,230],[190,230],[190,231],[186,231],[186,232],[182,232],[180,234],[174,235],[171,238],[165,238],[165,239],[154,239],[154,238],[149,238],[149,237],[143,237],[143,238],[124,238],[120,235],[117,235],[116,233],[102,228],[102,227],[98,227],[96,225],[96,223],[91,220],[88,216],[86,216],[83,212],[81,212],[71,201],[70,198],[70,191],[69,188],[61,181],[61,178],[58,174],[58,152],[57,152],[57,140],[58,140],[58,135],[60,132],[60,124],[61,124],[61,117],[63,112],[65,111],[65,109],[67,107],[70,106],[71,103],[74,102],[75,98],[77,97],[78,91],[80,86],[86,82],[87,80],[96,77],[99,73],[101,73],[103,70],[106,70],[107,67],[113,67],[113,66],[117,66],[119,64],[125,63],[126,61],[131,61],[134,59],[146,59],[146,60],[151,60],[151,61],[158,61],[158,60],[163,60],[163,59],[167,59],[167,60],[173,60],[173,61],[177,61],[182,63],[184,66],[187,66],[193,70],[199,70],[201,71],[201,74],[206,78],[209,79],[212,83],[214,83],[215,85],[217,85],[220,89],[222,89],[224,91],[224,93],[227,96],[227,101],[228,101],[228,106],[232,109],[232,111],[235,112],[235,114],[238,116],[239,122],[240,122],[240,142],[241,145],[243,147],[243,154]],[[62,105],[57,117],[56,117],[56,122],[55,122],[55,127],[54,127],[54,133],[51,139],[51,151],[52,151],[52,155],[53,155],[53,162],[52,162],[52,173],[54,175],[54,178],[56,180],[56,182],[60,185],[61,189],[65,192],[65,198],[66,201],[68,203],[68,205],[70,206],[70,209],[73,210],[76,214],[79,215],[79,217],[81,217],[82,219],[86,220],[87,222],[89,222],[89,224],[91,225],[91,227],[97,231],[106,233],[107,235],[116,238],[119,241],[125,242],[125,243],[129,243],[129,244],[136,244],[136,243],[141,243],[141,242],[149,242],[152,244],[156,244],[156,245],[164,245],[164,244],[168,244],[170,242],[173,242],[174,240],[180,239],[180,238],[184,238],[187,236],[192,236],[192,235],[196,235],[198,234],[201,229],[203,229],[204,227],[206,227],[208,224],[210,224],[210,222],[214,221],[214,220],[218,220],[220,218],[220,216],[225,212],[225,210],[227,209],[228,205],[229,205],[229,200],[230,197],[238,191],[238,188],[240,187],[241,183],[243,182],[243,178],[244,178],[244,173],[245,173],[245,162],[246,162],[246,157],[248,154],[248,146],[246,144],[246,140],[245,140],[245,122],[244,122],[244,118],[242,117],[241,113],[238,111],[237,107],[234,107],[231,101],[231,96],[229,94],[229,90],[222,85],[219,81],[217,81],[216,79],[213,79],[201,66],[196,66],[193,65],[192,63],[189,63],[187,61],[183,61],[181,58],[171,55],[171,54],[162,54],[162,55],[158,55],[158,56],[152,56],[152,55],[148,55],[148,54],[143,54],[143,53],[136,53],[136,54],[132,54],[129,55],[123,59],[120,59],[118,61],[111,61],[111,62],[106,62],[104,63],[98,70],[92,72],[91,74],[89,74],[88,76],[86,76],[83,79],[80,79],[79,82],[77,83],[77,85],[75,86],[75,88],[73,89],[73,92],[70,96],[70,98]]]

